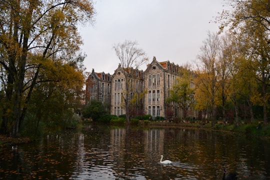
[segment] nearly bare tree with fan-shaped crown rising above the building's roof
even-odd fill
[[[138,69],[140,65],[145,63],[148,58],[146,53],[139,47],[137,47],[136,41],[125,40],[122,43],[114,44],[113,49],[115,50],[117,58],[120,60],[121,67],[124,69],[125,86],[123,93],[123,100],[125,106],[126,121],[129,123],[129,105],[130,105],[130,90],[131,90],[131,79],[133,77],[133,70]]]

